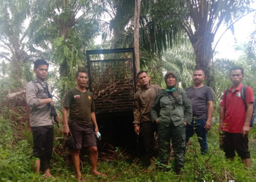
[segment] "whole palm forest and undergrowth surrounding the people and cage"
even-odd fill
[[[146,70],[151,83],[164,87],[163,73],[174,70],[179,85],[192,85],[195,68],[203,69],[214,91],[214,117],[208,132],[210,153],[200,155],[196,137],[185,155],[184,174],[158,169],[147,173],[143,160],[127,159],[115,147],[112,159],[99,160],[107,177],[90,175],[85,155],[82,171],[88,181],[255,181],[256,129],[249,135],[252,167],[237,157],[231,163],[219,150],[218,113],[223,91],[230,86],[229,69],[245,69],[244,84],[256,92],[256,28],[237,59],[221,59],[216,52],[218,36],[234,34],[241,18],[255,15],[252,0],[0,0],[0,181],[38,181],[29,160],[32,135],[26,83],[34,78],[33,62],[50,63],[47,82],[54,90],[61,114],[65,92],[75,86],[76,70],[86,68],[86,50],[135,47],[136,71]],[[254,22],[251,26],[255,27]],[[244,27],[246,29],[248,27]],[[101,44],[95,39],[101,36]],[[235,39],[235,37],[234,37]],[[125,55],[124,55],[125,56]],[[60,123],[62,126],[62,124]],[[61,129],[55,128],[52,174],[55,181],[75,181],[69,151]],[[113,157],[114,156],[114,157]],[[173,161],[173,160],[172,160]],[[157,163],[157,160],[156,160]],[[39,178],[39,181],[54,181]]]

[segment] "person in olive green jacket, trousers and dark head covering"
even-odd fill
[[[158,124],[159,162],[167,165],[172,138],[174,170],[176,174],[181,174],[181,168],[184,167],[185,126],[191,123],[192,106],[186,92],[176,87],[177,76],[174,71],[166,73],[165,83],[166,90],[158,92],[151,106],[151,118]]]

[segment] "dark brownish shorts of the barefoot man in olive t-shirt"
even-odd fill
[[[93,124],[68,123],[68,126],[76,141],[76,150],[82,149],[82,147],[97,146]]]

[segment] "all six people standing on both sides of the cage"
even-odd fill
[[[45,79],[49,64],[38,59],[34,62],[36,79],[27,84],[26,100],[30,107],[30,126],[33,133],[34,170],[43,171],[46,177],[50,174],[50,159],[53,150],[54,119],[50,115],[54,106],[52,91]],[[202,154],[208,153],[207,131],[211,128],[213,112],[213,94],[210,87],[203,84],[203,70],[193,72],[193,86],[185,91],[177,86],[177,75],[174,71],[165,74],[166,89],[150,84],[146,71],[137,74],[140,90],[134,95],[134,131],[142,133],[146,157],[154,167],[154,132],[158,135],[161,164],[169,164],[170,139],[174,151],[174,171],[181,174],[184,167],[186,143],[196,132]],[[250,167],[248,151],[249,120],[252,115],[253,91],[246,88],[245,102],[241,100],[242,79],[244,70],[234,67],[230,71],[232,86],[225,92],[221,102],[219,131],[225,136],[224,152],[233,160],[235,150],[246,167]],[[76,178],[84,181],[80,172],[79,153],[82,147],[89,147],[91,174],[106,174],[97,171],[98,149],[95,133],[99,132],[95,117],[93,94],[86,90],[88,75],[85,71],[76,72],[76,87],[67,92],[63,105],[64,135],[72,135],[75,149],[71,151]],[[246,105],[246,106],[245,106]],[[68,116],[69,113],[69,116]],[[59,114],[55,118],[60,120]]]

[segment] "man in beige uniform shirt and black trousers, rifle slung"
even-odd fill
[[[30,107],[30,126],[33,133],[33,155],[36,157],[33,165],[36,173],[44,171],[46,177],[50,174],[50,159],[53,150],[53,121],[50,115],[54,106],[52,98],[49,98],[47,90],[51,94],[50,87],[45,82],[48,75],[49,64],[43,59],[34,62],[36,79],[27,84],[26,100]],[[56,120],[60,116],[57,113]]]

